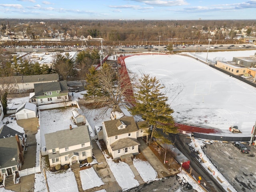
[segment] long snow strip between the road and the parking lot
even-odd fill
[[[202,148],[204,148],[205,142],[203,140],[192,138],[192,142],[189,145],[193,147],[196,152],[198,152],[198,156],[202,160],[201,164],[208,171],[208,173],[211,174],[226,191],[236,192],[235,188],[228,183],[224,176],[218,171],[218,169],[211,163],[208,157],[204,154]]]

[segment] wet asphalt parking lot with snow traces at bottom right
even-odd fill
[[[250,150],[248,154],[240,152],[231,142],[206,144],[203,151],[238,192],[256,192],[256,148],[244,145]]]

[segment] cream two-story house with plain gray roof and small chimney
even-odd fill
[[[92,157],[92,143],[87,126],[79,126],[44,135],[50,166],[77,164]]]

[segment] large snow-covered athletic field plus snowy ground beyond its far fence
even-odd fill
[[[208,58],[250,56],[256,51],[209,52]],[[189,54],[189,53],[188,53]],[[206,57],[206,53],[200,54]],[[165,89],[174,109],[176,122],[194,126],[210,126],[232,134],[230,125],[237,125],[250,136],[255,123],[256,88],[232,78],[202,62],[180,55],[140,55],[125,59],[129,72],[156,76]]]

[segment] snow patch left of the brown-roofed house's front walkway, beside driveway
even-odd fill
[[[106,152],[103,152],[103,154],[105,156],[106,162],[108,163],[108,166],[110,167],[110,170],[116,178],[116,181],[123,190],[128,190],[140,185],[139,182],[134,179],[135,176],[127,163],[122,161],[115,163],[106,154]]]

